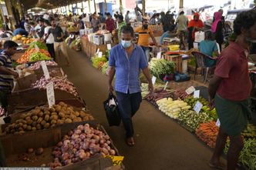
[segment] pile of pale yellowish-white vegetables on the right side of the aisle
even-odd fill
[[[157,101],[157,105],[165,115],[170,118],[177,119],[179,117],[179,112],[183,110],[188,110],[191,108],[186,102],[181,100],[173,101],[173,98],[162,98]]]

